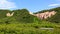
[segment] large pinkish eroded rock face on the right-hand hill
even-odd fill
[[[51,11],[51,12],[44,12],[44,13],[38,13],[38,14],[35,14],[34,16],[37,16],[38,18],[40,19],[47,19],[47,18],[50,18],[52,17],[53,15],[55,15],[56,12],[55,11]]]

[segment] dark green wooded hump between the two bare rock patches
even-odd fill
[[[14,16],[17,21],[24,23],[33,23],[35,20],[39,20],[37,17],[30,15],[27,9],[13,10],[15,12]]]

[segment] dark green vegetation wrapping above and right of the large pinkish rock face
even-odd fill
[[[50,11],[56,11],[57,12],[56,15],[52,16],[51,18],[46,19],[47,21],[55,22],[55,23],[60,23],[60,7],[52,8],[52,9],[48,9],[48,10],[38,11],[35,14],[43,13],[43,12],[46,12],[46,11],[49,11],[49,12]]]

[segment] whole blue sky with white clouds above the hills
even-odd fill
[[[27,9],[37,12],[60,6],[60,0],[0,0],[0,9]]]

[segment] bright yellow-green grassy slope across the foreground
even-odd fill
[[[41,23],[0,24],[0,34],[60,34],[60,24],[42,21]],[[41,30],[40,28],[54,28]]]

